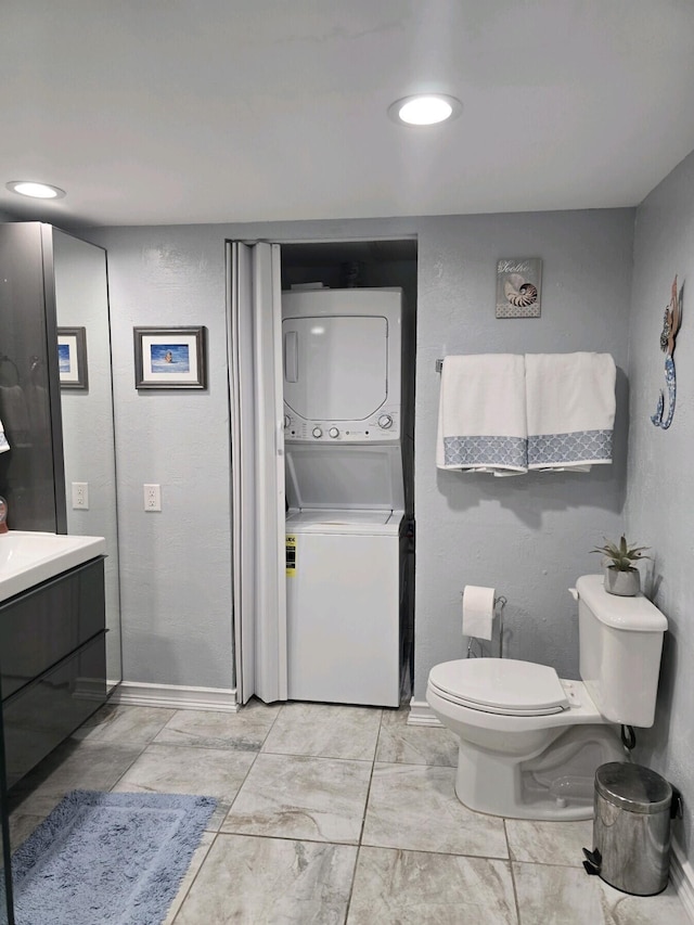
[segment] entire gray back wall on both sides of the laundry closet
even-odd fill
[[[416,691],[462,653],[460,590],[509,596],[509,654],[576,675],[575,606],[588,550],[621,525],[626,387],[615,465],[517,479],[439,475],[437,357],[449,352],[607,350],[626,364],[633,211],[82,230],[108,252],[118,458],[124,677],[233,683],[224,240],[319,241],[417,234],[415,421]],[[494,318],[496,262],[544,261],[542,317]],[[133,325],[205,324],[206,393],[133,387]],[[142,484],[160,483],[160,514]]]

